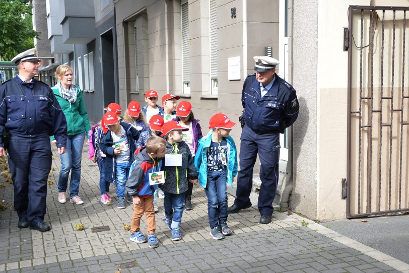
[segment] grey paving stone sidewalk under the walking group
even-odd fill
[[[234,234],[215,241],[209,235],[206,194],[198,186],[192,195],[194,210],[183,214],[181,241],[170,239],[170,231],[161,221],[163,202],[158,198],[160,246],[150,249],[147,243],[129,241],[123,225],[130,224],[133,210],[116,209],[113,186],[113,206],[99,202],[99,171],[88,160],[86,145],[79,193],[83,205],[58,203],[57,156],[52,167],[55,170],[49,180],[54,184],[47,186],[44,219],[52,227],[49,232],[18,229],[13,187],[7,182],[6,187],[0,187],[0,201],[7,205],[0,211],[2,272],[409,272],[406,263],[295,214],[275,212],[272,223],[260,225],[254,207],[229,215]],[[4,180],[0,176],[0,184]],[[230,204],[233,200],[229,196]],[[76,231],[77,223],[84,224],[85,230]],[[109,226],[110,230],[91,231],[99,226]],[[145,222],[141,230],[146,232]]]

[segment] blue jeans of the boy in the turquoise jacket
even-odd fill
[[[208,183],[204,192],[208,196],[209,224],[213,229],[227,221],[227,176],[226,169],[208,171]]]

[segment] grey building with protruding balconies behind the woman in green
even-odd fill
[[[33,21],[36,26],[44,26],[45,21],[45,27],[36,48],[39,55],[44,50],[49,52],[40,67],[41,80],[54,86],[56,67],[73,67],[90,120],[100,120],[104,106],[118,100],[113,1],[34,0],[33,13],[37,10],[42,14],[33,16]]]

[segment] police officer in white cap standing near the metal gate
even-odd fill
[[[257,153],[261,162],[258,210],[260,223],[271,222],[272,201],[279,178],[280,133],[284,133],[298,116],[298,100],[294,88],[276,74],[279,61],[269,56],[253,57],[256,73],[244,81],[243,130],[240,145],[240,171],[237,177],[236,199],[228,213],[238,213],[251,207],[253,167]],[[244,125],[245,123],[245,125]],[[244,125],[244,126],[243,126]]]

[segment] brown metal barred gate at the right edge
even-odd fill
[[[347,218],[409,211],[407,11],[349,8]]]

